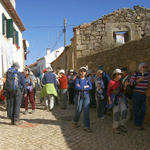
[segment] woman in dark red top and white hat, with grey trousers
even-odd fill
[[[127,132],[125,127],[127,117],[126,98],[121,85],[122,72],[120,69],[113,71],[113,79],[109,81],[107,95],[109,104],[113,104],[113,130],[115,133]]]

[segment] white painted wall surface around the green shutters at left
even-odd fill
[[[13,62],[18,62],[20,65],[20,71],[23,71],[24,68],[24,50],[22,42],[22,33],[18,26],[14,23],[14,28],[18,31],[19,34],[19,46],[20,49],[13,44],[13,39],[7,39],[2,34],[2,14],[5,14],[7,19],[11,19],[7,10],[3,7],[0,2],[0,77],[2,77],[2,70],[6,70],[12,65]],[[2,69],[4,68],[4,69]]]

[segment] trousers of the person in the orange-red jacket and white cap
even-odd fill
[[[67,108],[67,102],[68,102],[68,95],[67,95],[67,89],[61,89],[61,100],[62,100],[62,108],[66,109]]]

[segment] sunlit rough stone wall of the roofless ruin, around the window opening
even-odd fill
[[[123,8],[89,23],[74,28],[73,45],[76,56],[84,57],[119,45],[116,32],[127,32],[126,42],[150,34],[150,9],[135,6]]]

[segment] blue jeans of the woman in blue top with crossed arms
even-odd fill
[[[83,96],[81,96],[79,93],[79,96],[76,99],[76,111],[75,111],[75,116],[73,118],[73,121],[76,123],[79,121],[82,112],[82,106],[84,109],[84,126],[90,128],[90,118],[89,118],[90,98],[89,98],[89,94],[87,93],[84,93]]]

